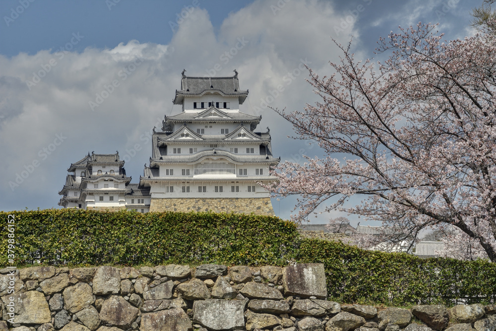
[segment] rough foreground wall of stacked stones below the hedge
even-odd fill
[[[496,330],[496,305],[327,301],[322,264],[0,269],[0,296],[1,331]]]

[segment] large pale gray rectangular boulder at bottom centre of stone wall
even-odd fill
[[[234,330],[245,326],[245,300],[207,299],[193,302],[193,322],[209,330]]]

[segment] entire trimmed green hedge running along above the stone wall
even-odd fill
[[[496,264],[420,259],[303,239],[278,217],[214,213],[46,209],[0,212],[0,266],[7,215],[15,215],[15,265],[323,263],[332,300],[345,303],[495,303]]]

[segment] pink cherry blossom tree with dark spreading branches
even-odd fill
[[[297,221],[320,206],[382,221],[405,238],[454,226],[495,262],[496,36],[443,42],[435,28],[419,23],[381,38],[384,63],[356,61],[350,43],[337,45],[343,55],[329,76],[309,68],[321,101],[276,111],[325,157],[280,164],[268,188],[300,195]],[[345,207],[353,196],[361,202]]]

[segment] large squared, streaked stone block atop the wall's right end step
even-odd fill
[[[323,264],[295,264],[282,271],[284,293],[301,298],[325,299],[327,287]]]

